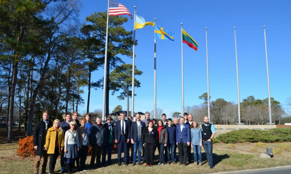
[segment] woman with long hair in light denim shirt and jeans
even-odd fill
[[[199,157],[199,166],[202,165],[202,155],[201,155],[201,147],[202,147],[202,134],[201,129],[197,122],[193,121],[190,126],[191,131],[191,147],[194,151],[194,165],[198,164],[197,154]]]

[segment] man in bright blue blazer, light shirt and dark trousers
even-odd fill
[[[184,124],[184,117],[180,117],[180,124],[176,126],[176,141],[179,151],[179,162],[180,164],[184,164],[184,166],[187,166],[186,162],[188,159],[188,153],[187,153],[187,146],[190,146],[190,126]]]

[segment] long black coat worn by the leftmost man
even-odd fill
[[[49,121],[48,128],[52,127],[52,122]],[[41,120],[35,124],[35,130],[33,131],[33,146],[38,146],[38,149],[35,150],[35,155],[43,156],[44,155],[44,145],[46,143],[46,124]]]

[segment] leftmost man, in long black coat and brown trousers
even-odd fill
[[[33,146],[35,149],[34,173],[38,173],[41,157],[44,157],[44,161],[41,166],[41,173],[46,173],[48,155],[44,150],[44,145],[46,143],[46,133],[47,130],[52,127],[52,121],[49,120],[49,114],[47,111],[42,113],[42,118],[43,119],[40,122],[35,124],[35,129],[33,131]]]

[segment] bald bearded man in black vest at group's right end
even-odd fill
[[[214,125],[209,123],[207,116],[204,117],[204,124],[201,126],[202,131],[202,143],[205,150],[206,158],[210,169],[213,168],[213,156],[212,156],[212,139],[215,135]]]

